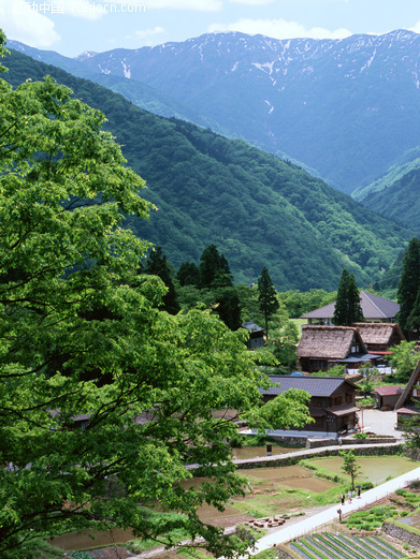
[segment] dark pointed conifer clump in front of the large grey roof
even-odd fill
[[[338,284],[335,301],[333,323],[339,326],[350,326],[354,322],[363,322],[360,295],[353,274],[343,270]]]

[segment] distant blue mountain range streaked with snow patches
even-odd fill
[[[418,145],[419,50],[419,35],[393,31],[283,41],[207,34],[78,59],[31,52],[71,72],[141,81],[224,134],[286,153],[353,192]]]

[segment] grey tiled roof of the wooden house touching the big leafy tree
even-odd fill
[[[306,390],[311,396],[331,396],[343,383],[354,387],[353,383],[336,377],[270,376],[270,380],[280,386],[272,386],[268,390],[260,388],[261,394],[265,396],[278,396],[291,388]]]

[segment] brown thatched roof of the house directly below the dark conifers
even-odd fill
[[[350,353],[353,340],[359,344],[360,353],[367,353],[359,330],[353,326],[303,326],[297,356],[345,359]]]

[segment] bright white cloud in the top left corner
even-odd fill
[[[32,47],[50,47],[60,40],[54,22],[24,0],[0,0],[0,22],[8,39]]]

